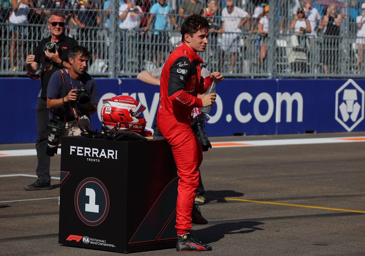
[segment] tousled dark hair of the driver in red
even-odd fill
[[[197,13],[189,15],[181,25],[181,41],[185,42],[185,34],[193,36],[197,31],[205,29],[209,31],[212,28],[210,20]]]

